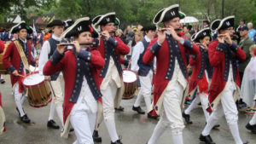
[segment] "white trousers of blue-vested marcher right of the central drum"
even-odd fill
[[[134,103],[134,107],[139,107],[144,97],[146,107],[147,107],[147,112],[150,110],[150,105],[151,105],[152,78],[153,78],[153,72],[151,70],[148,72],[148,75],[146,77],[139,76],[141,89]]]

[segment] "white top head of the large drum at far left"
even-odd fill
[[[44,82],[44,76],[39,73],[34,73],[32,75],[28,75],[27,78],[24,79],[23,84],[25,86],[33,86],[42,82]]]

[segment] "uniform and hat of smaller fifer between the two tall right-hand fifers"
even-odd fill
[[[211,30],[209,27],[195,33],[191,40],[199,43],[199,40],[203,39],[204,37],[211,37]],[[191,55],[189,59],[189,65],[193,66],[193,72],[189,81],[189,94],[193,95],[195,89],[197,89],[199,91],[199,95],[195,96],[195,100],[192,101],[189,107],[183,112],[183,118],[185,118],[187,124],[192,124],[192,122],[189,120],[189,113],[200,102],[206,117],[206,121],[209,118],[209,112],[207,112],[208,85],[210,84],[210,78],[212,78],[212,66],[210,66],[207,49],[203,48],[202,46],[200,46],[199,49],[200,53],[198,53],[198,55]]]

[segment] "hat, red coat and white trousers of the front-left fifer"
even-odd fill
[[[64,32],[61,37],[72,37],[81,32],[95,31],[90,26],[90,18],[84,17]],[[67,137],[69,123],[73,125],[77,141],[74,143],[93,144],[92,131],[96,123],[97,101],[101,101],[97,70],[104,66],[104,59],[95,48],[75,48],[61,55],[57,50],[44,66],[44,75],[63,71],[65,95],[63,103],[64,131]]]

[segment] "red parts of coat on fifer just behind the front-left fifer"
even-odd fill
[[[117,54],[119,61],[121,64],[125,63],[125,59],[121,58],[120,55],[127,55],[130,52],[130,48],[119,38],[119,37],[113,37],[113,39],[115,39],[118,43],[115,47],[115,53]],[[105,45],[104,45],[104,41],[102,39],[102,37],[100,38],[100,45],[97,47],[97,49],[100,51],[102,58],[104,58],[105,56]],[[99,70],[99,73],[102,70]],[[103,78],[100,77],[99,78],[101,83],[103,81]]]

